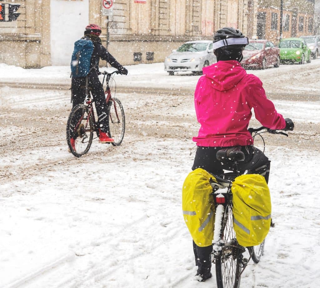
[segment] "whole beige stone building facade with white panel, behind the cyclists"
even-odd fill
[[[185,41],[212,39],[221,27],[239,28],[249,37],[257,31],[258,0],[0,0],[0,5],[0,62],[25,68],[69,64],[76,39],[64,33],[76,29],[68,13],[80,5],[82,33],[88,23],[99,24],[103,43],[123,65],[162,62]],[[54,14],[57,5],[62,6]],[[67,42],[63,60],[54,51]]]

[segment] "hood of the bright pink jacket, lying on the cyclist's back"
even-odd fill
[[[235,87],[247,75],[247,72],[238,61],[230,60],[219,61],[211,66],[204,67],[203,74],[211,80],[212,88],[226,91]]]

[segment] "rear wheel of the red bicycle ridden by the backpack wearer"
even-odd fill
[[[92,144],[93,131],[92,116],[89,116],[88,107],[79,104],[72,108],[67,121],[67,143],[74,156],[81,157],[88,153]],[[75,150],[71,146],[71,138],[75,138]]]

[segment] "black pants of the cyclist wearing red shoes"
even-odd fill
[[[106,96],[96,71],[92,71],[88,74],[88,86],[92,89],[91,93],[97,110],[99,128],[102,132],[108,132],[109,117]],[[72,107],[83,104],[85,98],[85,77],[72,78],[71,90]]]

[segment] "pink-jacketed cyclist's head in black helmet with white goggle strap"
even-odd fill
[[[239,29],[225,27],[219,29],[213,36],[213,50],[221,60],[242,60],[242,50],[249,44]],[[217,60],[219,61],[218,57]]]

